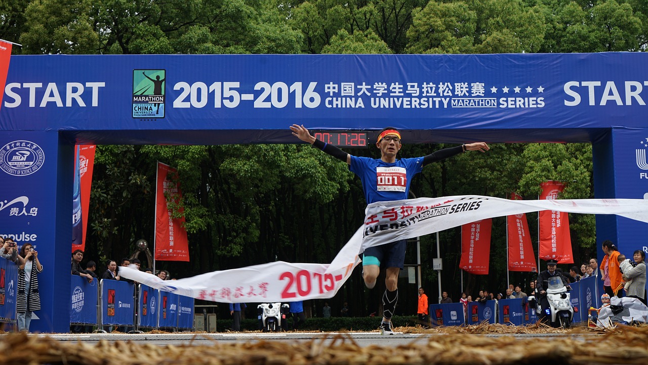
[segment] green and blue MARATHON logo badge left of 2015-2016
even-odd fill
[[[164,69],[133,69],[133,118],[164,118]]]

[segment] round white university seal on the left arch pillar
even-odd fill
[[[0,169],[9,175],[31,175],[43,167],[44,163],[45,153],[34,142],[9,142],[0,151]]]

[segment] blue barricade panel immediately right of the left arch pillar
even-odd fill
[[[70,323],[97,324],[99,288],[97,279],[72,275],[70,281]]]

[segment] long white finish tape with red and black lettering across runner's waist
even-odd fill
[[[557,210],[582,214],[617,214],[648,223],[648,200],[570,199],[509,200],[480,195],[419,198],[372,203],[365,224],[356,231],[330,264],[283,261],[245,268],[213,271],[174,281],[132,268],[120,268],[122,277],[152,288],[222,303],[297,301],[335,296],[366,247],[388,244],[459,227],[486,218]],[[494,303],[494,301],[493,301]]]

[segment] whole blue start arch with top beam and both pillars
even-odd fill
[[[0,108],[0,233],[38,245],[44,307],[32,329],[69,329],[56,314],[69,312],[75,143],[295,143],[292,123],[392,125],[412,143],[592,142],[596,197],[641,199],[646,64],[646,53],[14,56]],[[644,245],[643,223],[596,224],[626,255]]]

